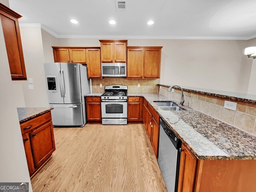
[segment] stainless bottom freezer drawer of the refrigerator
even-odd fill
[[[53,126],[83,126],[82,104],[50,104]]]

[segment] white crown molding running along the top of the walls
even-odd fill
[[[250,40],[253,36],[127,36],[127,35],[60,35],[40,23],[20,23],[20,28],[41,28],[56,38],[76,39],[184,39],[184,40]]]

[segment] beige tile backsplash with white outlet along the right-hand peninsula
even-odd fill
[[[168,92],[161,86],[159,93],[180,102],[181,91]],[[208,114],[232,126],[256,135],[256,104],[184,91],[184,105]],[[224,101],[236,102],[236,111],[224,108]]]

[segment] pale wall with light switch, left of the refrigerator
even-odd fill
[[[34,89],[28,81],[22,82],[26,107],[48,107],[44,78],[44,49],[41,28],[20,28],[27,78],[32,78]]]

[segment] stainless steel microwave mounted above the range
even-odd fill
[[[126,63],[102,63],[102,77],[126,77]]]

